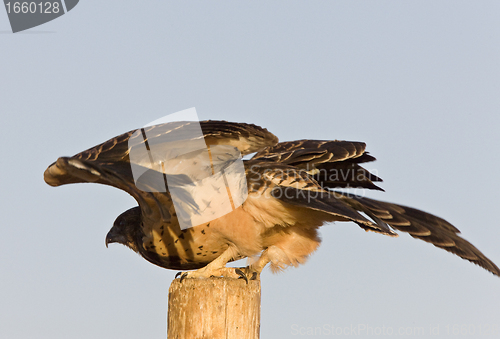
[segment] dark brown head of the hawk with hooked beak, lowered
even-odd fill
[[[138,206],[120,214],[106,235],[106,247],[110,243],[117,242],[138,252],[135,235],[140,229],[141,219],[141,209]]]

